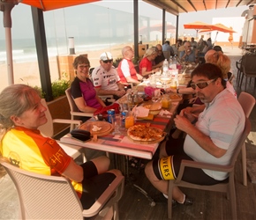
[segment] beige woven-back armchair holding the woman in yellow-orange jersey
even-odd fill
[[[124,177],[118,176],[90,209],[83,209],[71,181],[64,177],[27,172],[1,162],[19,195],[20,219],[102,219],[113,207],[119,219],[118,201],[124,193]],[[92,219],[92,218],[90,218]]]

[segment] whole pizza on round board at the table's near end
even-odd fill
[[[146,125],[133,125],[128,128],[127,135],[134,141],[153,142],[161,139],[163,132],[159,128],[147,127]]]

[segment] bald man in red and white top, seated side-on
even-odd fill
[[[142,77],[135,70],[134,64],[132,62],[132,58],[134,56],[134,52],[130,46],[125,46],[122,49],[123,60],[119,62],[117,73],[120,77],[120,81],[123,84],[132,83],[139,84]]]

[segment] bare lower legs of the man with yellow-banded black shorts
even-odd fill
[[[154,175],[152,161],[150,161],[145,167],[145,173],[147,179],[152,183],[152,185],[158,189],[162,194],[168,194],[169,181],[168,180],[158,180]],[[172,191],[172,197],[177,202],[184,202],[184,193],[178,188],[174,187]]]

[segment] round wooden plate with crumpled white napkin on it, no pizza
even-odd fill
[[[94,128],[94,125],[102,129],[98,131],[93,131],[92,128]],[[86,121],[79,126],[79,129],[90,131],[93,136],[106,136],[112,131],[113,126],[106,121]]]

